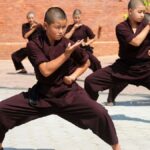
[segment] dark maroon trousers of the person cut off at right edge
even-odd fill
[[[112,68],[110,66],[99,69],[96,72],[90,74],[85,79],[85,90],[89,94],[89,96],[97,100],[98,92],[104,91],[106,89],[110,89],[110,93],[108,96],[108,101],[114,101],[116,96],[128,85],[142,85],[148,89],[150,89],[150,77],[145,78],[141,81],[127,81],[123,79],[117,79],[112,76]]]

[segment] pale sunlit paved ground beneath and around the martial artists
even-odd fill
[[[99,57],[103,66],[116,56]],[[23,61],[27,75],[16,74],[11,60],[0,60],[0,100],[26,91],[35,82],[33,68]],[[86,71],[78,80],[83,86]],[[98,102],[106,102],[108,91],[100,92]],[[116,99],[116,106],[105,106],[115,124],[122,150],[150,150],[150,92],[144,87],[129,85]],[[4,140],[4,150],[110,150],[90,130],[51,115],[10,130]]]

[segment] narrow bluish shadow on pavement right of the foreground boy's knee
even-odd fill
[[[136,122],[143,122],[143,123],[150,123],[150,120],[144,120],[140,118],[135,118],[135,117],[128,117],[124,114],[118,114],[118,115],[111,115],[111,118],[113,120],[127,120],[127,121],[136,121]]]

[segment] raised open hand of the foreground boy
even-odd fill
[[[67,56],[70,56],[72,54],[72,52],[81,45],[81,43],[83,42],[83,40],[79,40],[77,42],[75,42],[73,45],[71,45],[71,43],[68,44],[66,50],[65,50],[65,54]]]

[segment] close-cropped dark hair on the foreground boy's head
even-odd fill
[[[55,20],[67,20],[67,16],[63,9],[59,7],[51,7],[45,13],[44,21],[48,24],[52,24]]]

